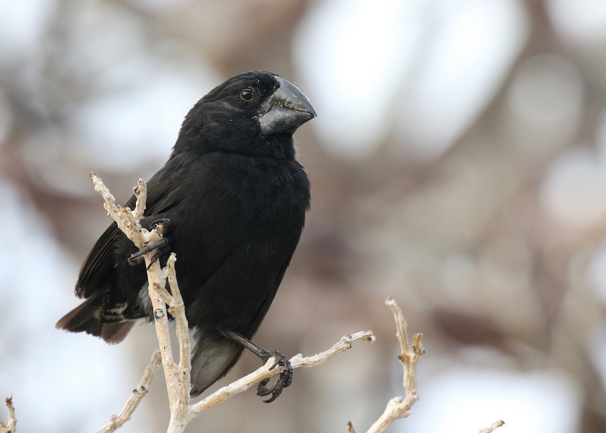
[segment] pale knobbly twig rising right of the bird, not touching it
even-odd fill
[[[406,390],[406,398],[395,397],[387,403],[387,408],[379,417],[378,420],[368,429],[367,433],[382,433],[393,421],[400,418],[405,418],[410,415],[410,408],[419,400],[419,395],[416,389],[416,364],[419,358],[424,354],[422,349],[422,334],[413,335],[413,345],[410,346],[408,342],[408,324],[404,319],[404,314],[393,298],[387,298],[385,301],[388,307],[390,307],[393,317],[396,320],[396,336],[400,343],[402,354],[399,355],[398,359],[402,363],[404,368],[404,389]],[[347,431],[355,432],[353,423],[349,421],[347,423]]]

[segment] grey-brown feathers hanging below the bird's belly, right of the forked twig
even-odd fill
[[[240,344],[221,335],[199,338],[191,351],[191,397],[202,394],[211,384],[224,377],[243,350]]]

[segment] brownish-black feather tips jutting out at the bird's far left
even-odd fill
[[[103,338],[107,343],[119,343],[124,340],[135,324],[135,320],[102,321],[103,299],[104,292],[92,295],[64,315],[55,326],[70,332],[86,332]]]

